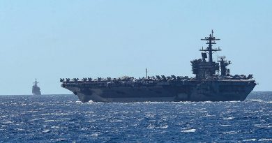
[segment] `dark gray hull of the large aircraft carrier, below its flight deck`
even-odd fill
[[[103,103],[232,101],[245,100],[255,87],[255,80],[222,80],[152,86],[88,87],[84,84],[65,84],[83,103],[92,100]]]

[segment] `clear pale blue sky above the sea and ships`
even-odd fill
[[[200,40],[232,61],[232,75],[253,74],[254,91],[272,91],[272,1],[1,0],[0,95],[71,93],[66,77],[193,77]]]

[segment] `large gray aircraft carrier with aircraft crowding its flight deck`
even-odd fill
[[[256,82],[252,75],[230,75],[231,61],[219,57],[213,61],[213,48],[218,38],[213,31],[205,40],[208,47],[202,47],[202,59],[191,61],[192,73],[188,76],[147,76],[119,78],[74,78],[61,79],[61,86],[72,91],[82,102],[168,102],[168,101],[231,101],[245,100],[254,89]],[[209,57],[208,57],[209,55]]]

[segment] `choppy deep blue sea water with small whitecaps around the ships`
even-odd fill
[[[272,142],[271,109],[272,92],[197,103],[0,96],[0,142]]]

